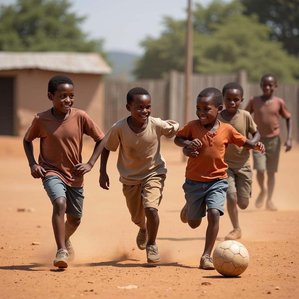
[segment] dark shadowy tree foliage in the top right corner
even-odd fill
[[[290,54],[299,53],[299,0],[241,0],[245,14],[256,13],[273,29],[271,38],[283,42]]]

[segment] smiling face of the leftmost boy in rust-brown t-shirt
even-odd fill
[[[74,86],[68,83],[60,84],[54,94],[48,92],[48,98],[53,102],[54,113],[63,116],[74,104]]]

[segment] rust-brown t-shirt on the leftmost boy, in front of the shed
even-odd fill
[[[38,163],[47,171],[45,176],[58,176],[70,187],[82,187],[83,177],[72,171],[76,164],[82,163],[83,134],[95,142],[104,138],[85,111],[71,108],[68,118],[58,120],[49,109],[34,116],[25,139],[30,142],[40,138]]]

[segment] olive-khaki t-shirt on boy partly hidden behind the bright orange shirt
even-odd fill
[[[257,125],[255,124],[250,113],[245,110],[239,110],[239,116],[234,121],[225,120],[221,113],[218,116],[218,119],[223,123],[229,123],[233,126],[239,133],[248,138],[248,133],[254,133],[257,130]],[[249,160],[250,154],[249,149],[244,147],[237,147],[235,144],[228,144],[227,149],[225,150],[225,161],[228,164],[229,168],[241,168],[245,166],[250,166]]]

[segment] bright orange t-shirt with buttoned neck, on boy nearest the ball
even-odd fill
[[[219,120],[218,120],[219,121]],[[234,143],[238,147],[246,141],[246,137],[237,132],[230,124],[219,121],[219,128],[211,134],[200,122],[192,120],[176,132],[176,136],[185,140],[195,138],[202,142],[197,149],[199,154],[189,158],[186,167],[186,178],[193,181],[213,181],[226,179],[228,165],[224,160],[225,149],[228,144]]]

